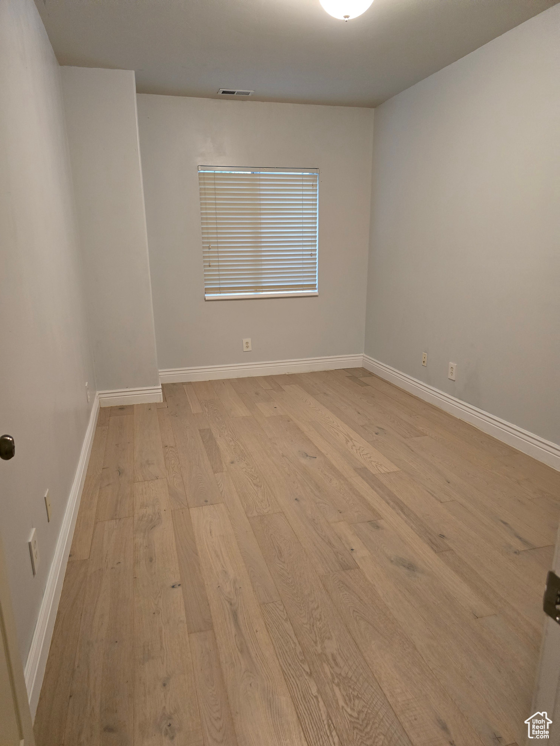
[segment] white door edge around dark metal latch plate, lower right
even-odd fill
[[[554,552],[553,571],[560,576],[560,527],[556,536],[556,550]],[[559,609],[560,615],[560,609]],[[536,742],[547,743],[550,746],[560,746],[560,624],[549,616],[544,615],[544,634],[541,645],[541,659],[538,666],[535,695],[531,714],[546,713],[550,718],[549,739],[529,739],[527,744]],[[543,719],[542,716],[540,719]]]

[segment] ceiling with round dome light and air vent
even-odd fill
[[[138,93],[373,107],[556,0],[36,0],[61,65],[136,71]],[[239,99],[237,99],[239,100]]]

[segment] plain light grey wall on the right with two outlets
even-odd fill
[[[365,338],[556,443],[559,72],[556,5],[376,108]]]

